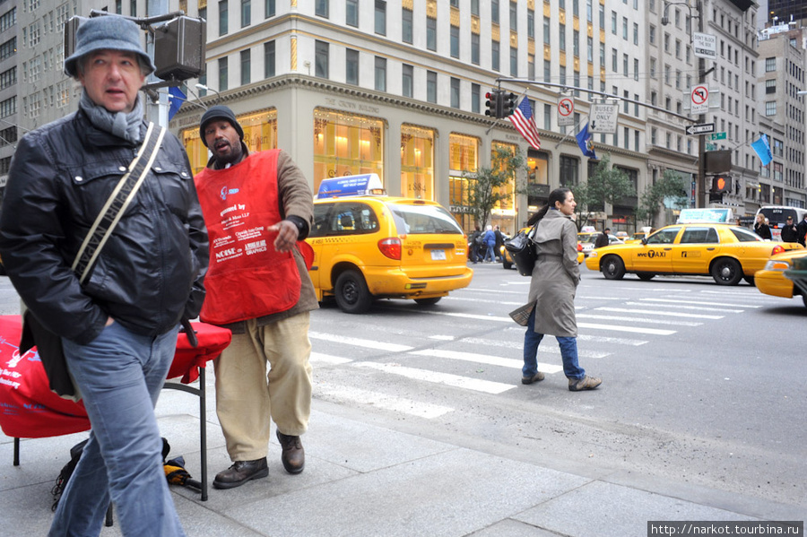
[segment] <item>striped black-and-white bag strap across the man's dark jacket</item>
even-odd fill
[[[143,184],[143,179],[148,174],[149,169],[152,168],[152,163],[157,157],[157,149],[160,147],[162,137],[165,135],[165,127],[157,127],[159,131],[156,134],[154,127],[153,123],[149,123],[140,151],[134,156],[134,160],[129,164],[126,173],[120,178],[112,194],[109,195],[107,203],[104,204],[90,231],[87,232],[87,236],[82,242],[82,247],[79,248],[78,254],[75,256],[72,268],[82,283],[89,274],[87,268],[95,263],[101,248],[106,244],[112,230],[117,226],[117,222],[120,221],[126,207],[132,203],[134,195],[137,194],[137,190]]]

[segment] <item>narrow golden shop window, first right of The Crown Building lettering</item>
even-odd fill
[[[401,126],[401,195],[434,199],[434,131]]]

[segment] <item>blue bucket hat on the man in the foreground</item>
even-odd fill
[[[92,17],[82,22],[75,32],[75,51],[65,59],[65,74],[75,76],[76,64],[82,56],[96,50],[126,50],[134,52],[147,65],[149,73],[156,69],[152,58],[143,51],[140,29],[137,25],[115,15]]]

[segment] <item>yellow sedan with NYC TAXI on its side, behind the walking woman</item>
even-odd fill
[[[608,280],[635,273],[640,280],[656,274],[712,276],[721,285],[752,283],[754,273],[768,263],[774,247],[803,249],[798,243],[763,241],[751,230],[733,224],[710,222],[666,226],[638,244],[593,250],[586,267],[602,271]]]

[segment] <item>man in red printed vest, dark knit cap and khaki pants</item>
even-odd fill
[[[301,250],[314,204],[288,153],[247,150],[230,108],[208,109],[199,134],[213,152],[194,178],[211,244],[200,316],[233,333],[214,362],[216,411],[233,464],[213,487],[231,489],[269,474],[270,418],[283,467],[299,473],[305,465],[299,437],[311,411],[308,319],[318,306]]]

